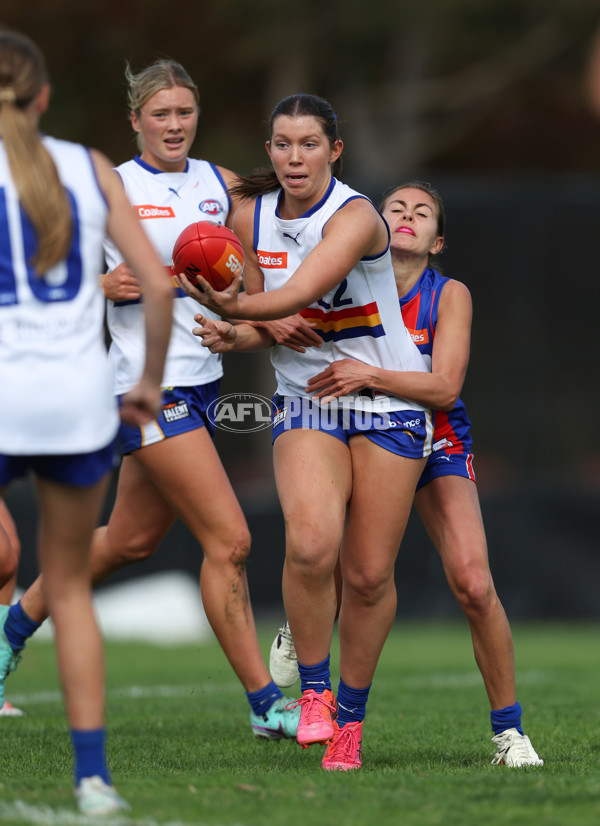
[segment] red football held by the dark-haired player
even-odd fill
[[[224,290],[243,268],[242,242],[235,232],[216,221],[190,224],[175,241],[173,272],[184,273],[192,284],[201,275],[215,290]]]

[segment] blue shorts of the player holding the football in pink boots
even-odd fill
[[[408,459],[431,453],[433,426],[429,410],[393,410],[386,413],[354,410],[345,406],[321,407],[302,396],[273,396],[273,439],[286,430],[320,430],[348,444],[363,435]]]

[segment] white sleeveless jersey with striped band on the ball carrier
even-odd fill
[[[364,198],[332,178],[315,207],[300,218],[284,221],[277,209],[280,191],[260,196],[256,202],[253,246],[266,291],[288,281],[322,240],[325,224],[338,209],[354,198]],[[386,370],[428,369],[402,320],[389,248],[361,259],[341,284],[302,310],[302,315],[315,324],[323,344],[308,347],[305,353],[277,344],[272,348],[277,392],[282,396],[307,396],[308,379],[344,358]],[[424,409],[413,401],[373,395],[352,394],[344,397],[344,403],[370,411]]]

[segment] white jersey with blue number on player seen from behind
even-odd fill
[[[98,286],[107,204],[87,149],[43,139],[73,209],[66,261],[38,277],[33,228],[0,141],[0,452],[64,455],[105,447],[119,424]]]

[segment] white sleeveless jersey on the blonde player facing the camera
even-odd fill
[[[185,172],[160,172],[139,157],[117,167],[125,191],[165,267],[171,265],[179,233],[196,221],[224,224],[230,198],[219,170],[208,161],[189,159]],[[123,257],[107,240],[108,270]],[[165,276],[166,277],[166,276]],[[169,276],[170,277],[170,276]],[[218,318],[173,283],[173,327],[163,374],[163,387],[208,384],[223,375],[222,358],[201,346],[192,335],[194,315]],[[144,308],[141,301],[107,302],[111,336],[110,357],[115,366],[115,393],[130,390],[144,365]]]

